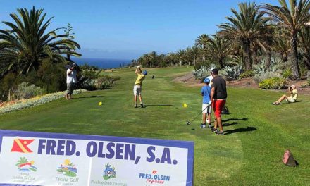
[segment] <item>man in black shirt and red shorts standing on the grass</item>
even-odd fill
[[[216,135],[224,135],[221,112],[226,103],[227,92],[226,92],[226,82],[225,80],[218,76],[218,70],[214,68],[212,71],[212,85],[211,85],[211,101],[214,111],[214,128],[211,130],[216,133]],[[217,130],[220,128],[220,131]]]

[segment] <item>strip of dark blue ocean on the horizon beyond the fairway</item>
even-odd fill
[[[97,66],[98,68],[119,68],[130,64],[128,59],[109,59],[109,58],[72,58],[77,65]]]

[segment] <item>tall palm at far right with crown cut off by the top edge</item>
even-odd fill
[[[281,6],[263,4],[261,9],[263,13],[266,13],[277,20],[278,24],[289,33],[292,51],[292,73],[294,79],[297,80],[300,78],[297,52],[297,35],[305,26],[305,24],[309,22],[310,2],[308,0],[300,0],[299,4],[297,4],[297,0],[290,0],[290,6],[288,6],[285,0],[278,1]]]

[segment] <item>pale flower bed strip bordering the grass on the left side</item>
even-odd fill
[[[73,92],[73,94],[80,94],[82,92],[86,92],[85,89],[77,89]],[[63,98],[66,94],[66,91],[63,92],[56,92],[51,94],[45,94],[44,96],[33,97],[30,99],[23,99],[18,101],[11,101],[8,103],[4,103],[3,106],[0,108],[0,113],[7,113],[11,111],[17,111],[20,109],[25,109],[30,106],[37,106],[46,104],[48,102],[54,101],[59,98]]]

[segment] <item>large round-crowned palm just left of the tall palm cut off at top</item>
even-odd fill
[[[240,13],[231,9],[234,16],[226,17],[230,23],[218,25],[222,30],[220,35],[227,37],[235,44],[241,44],[244,56],[244,63],[247,70],[252,69],[251,46],[253,43],[264,46],[266,35],[271,31],[268,26],[269,18],[263,17],[259,12],[259,7],[255,3],[238,4]]]

